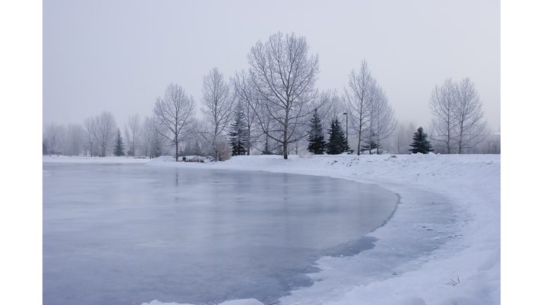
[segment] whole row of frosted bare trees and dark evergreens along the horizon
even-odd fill
[[[287,159],[288,154],[304,152],[408,153],[409,139],[424,133],[422,127],[419,132],[413,124],[398,124],[385,90],[365,60],[358,71],[351,71],[341,95],[315,88],[319,57],[309,54],[305,37],[294,33],[278,32],[267,42],[257,42],[247,61],[247,71],[236,71],[229,80],[218,68],[204,76],[200,101],[204,119],[196,118],[192,95],[170,83],[156,98],[152,116],[129,116],[124,138],[115,117],[104,111],[82,125],[45,125],[43,154],[88,151],[102,157],[168,154],[176,160],[182,155],[226,160],[230,155],[255,154]],[[482,102],[469,78],[436,85],[428,107],[432,120],[427,134],[436,152],[500,152],[499,132],[488,131]]]

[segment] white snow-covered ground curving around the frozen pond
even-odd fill
[[[368,234],[378,239],[374,249],[356,256],[320,258],[317,268],[322,271],[310,274],[315,284],[293,291],[281,304],[501,303],[500,155],[291,155],[288,160],[240,156],[206,163],[171,162],[171,157],[45,156],[42,161],[146,162],[375,183],[401,200],[390,220]],[[428,202],[421,192],[434,194],[435,200]],[[227,304],[266,304],[266,300],[223,303]]]

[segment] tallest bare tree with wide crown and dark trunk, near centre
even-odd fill
[[[309,120],[313,112],[310,103],[318,95],[319,58],[308,52],[305,37],[278,32],[265,44],[257,42],[247,54],[250,78],[260,97],[252,101],[258,105],[251,105],[267,137],[281,143],[284,159],[288,159],[288,143],[298,140],[296,131]],[[257,108],[262,108],[266,117]],[[268,118],[270,129],[264,127]]]

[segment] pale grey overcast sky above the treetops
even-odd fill
[[[211,68],[247,69],[279,31],[319,54],[320,90],[366,59],[399,121],[426,127],[433,86],[469,77],[500,126],[500,1],[43,1],[43,122],[107,110],[122,128],[169,83],[199,102]]]

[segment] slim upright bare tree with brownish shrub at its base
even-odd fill
[[[226,142],[223,131],[230,123],[230,117],[234,110],[233,97],[230,94],[230,86],[224,79],[223,73],[218,68],[213,68],[204,76],[202,86],[201,109],[204,117],[211,124],[211,130],[199,130],[202,136],[211,144],[215,160],[219,160],[219,152]]]

